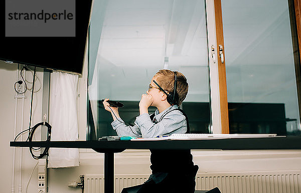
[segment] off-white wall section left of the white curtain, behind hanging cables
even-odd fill
[[[2,187],[2,192],[11,191],[12,183],[12,168],[13,168],[13,147],[9,146],[9,142],[14,140],[14,117],[15,117],[15,95],[14,83],[16,82],[17,76],[17,64],[8,64],[4,61],[0,61],[0,120],[1,120],[1,135],[0,135],[0,149],[1,149],[1,171],[0,175],[0,185]],[[37,75],[43,80],[43,72],[38,69]],[[29,76],[30,78],[30,76]],[[25,109],[24,109],[24,128],[29,126],[29,115],[30,115],[30,99],[31,92],[26,92],[27,98],[25,99]],[[42,106],[42,89],[34,94],[33,100],[33,118],[32,125],[41,122],[41,106]],[[21,129],[21,110],[22,110],[22,99],[18,101],[18,115],[17,115],[17,133]],[[28,136],[25,134],[25,137]],[[37,135],[39,131],[37,130]],[[38,137],[37,137],[38,139]],[[19,188],[19,164],[20,164],[20,148],[16,148],[16,177],[15,177],[15,192],[18,192]],[[33,159],[29,153],[28,148],[23,149],[23,168],[22,168],[22,189],[25,192],[25,187],[29,175],[32,171],[33,166],[37,160]],[[38,173],[34,172],[32,179],[37,179]],[[37,187],[37,180],[32,180],[29,185],[29,189]],[[36,191],[28,191],[36,192]]]

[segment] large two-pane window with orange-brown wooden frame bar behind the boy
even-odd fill
[[[95,0],[88,139],[116,134],[106,97],[123,102],[120,116],[133,124],[141,94],[164,66],[188,79],[181,108],[191,132],[299,135],[299,51],[289,3]]]

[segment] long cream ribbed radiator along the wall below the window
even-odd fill
[[[149,174],[116,174],[115,193],[143,183]],[[222,193],[300,193],[301,171],[198,173],[196,189],[219,187]],[[86,174],[85,193],[104,193],[103,175]]]

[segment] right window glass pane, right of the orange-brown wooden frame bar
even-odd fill
[[[222,0],[230,133],[300,133],[287,0]]]

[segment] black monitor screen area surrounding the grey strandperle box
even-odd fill
[[[81,74],[91,1],[76,0],[75,37],[6,37],[5,30],[0,30],[0,59]],[[4,10],[1,26],[5,28]]]

